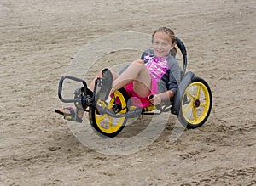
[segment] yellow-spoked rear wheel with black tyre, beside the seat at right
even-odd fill
[[[193,77],[181,100],[179,120],[187,128],[201,127],[212,109],[212,92],[207,82]]]

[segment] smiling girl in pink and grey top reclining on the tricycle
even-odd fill
[[[180,82],[180,68],[174,57],[174,32],[169,28],[160,27],[152,34],[152,44],[153,50],[143,52],[141,59],[133,61],[120,75],[108,69],[102,70],[99,76],[103,81],[96,93],[96,100],[107,99],[109,93],[112,94],[121,87],[125,87],[130,97],[136,97],[140,103],[134,104],[141,107],[158,105],[173,99]],[[88,87],[91,91],[94,82],[95,80]],[[83,109],[77,108],[75,112],[68,107],[59,110],[59,113],[72,116],[73,121],[81,122]]]

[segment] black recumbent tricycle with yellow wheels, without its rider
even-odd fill
[[[128,105],[129,96],[125,88],[120,88],[113,93],[113,97],[108,103],[100,103],[96,100],[96,87],[100,85],[101,78],[97,78],[95,87],[91,96],[86,91],[87,84],[83,79],[75,76],[62,76],[59,82],[58,96],[63,103],[82,104],[88,106],[89,121],[91,126],[106,137],[115,137],[121,132],[129,117],[140,115],[160,115],[162,112],[171,112],[176,115],[184,127],[196,128],[201,127],[208,119],[212,109],[212,93],[209,85],[201,77],[195,76],[193,72],[186,71],[187,68],[187,51],[181,39],[176,38],[176,44],[182,57],[183,65],[181,66],[181,82],[178,85],[177,93],[171,104],[154,106],[146,108],[137,108]],[[75,82],[81,82],[83,87],[75,91],[73,99],[64,99],[62,97],[63,82],[69,79]],[[118,101],[116,101],[118,100]]]

